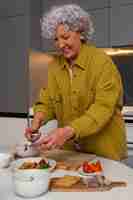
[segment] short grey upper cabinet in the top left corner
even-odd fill
[[[0,17],[23,15],[30,10],[30,0],[0,0]]]

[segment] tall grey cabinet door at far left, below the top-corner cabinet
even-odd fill
[[[28,107],[28,17],[0,20],[1,112],[24,113]]]

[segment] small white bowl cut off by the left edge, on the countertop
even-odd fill
[[[12,155],[8,153],[0,153],[0,168],[8,167],[12,159]]]

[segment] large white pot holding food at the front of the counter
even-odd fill
[[[48,191],[51,170],[56,166],[56,161],[48,159],[48,169],[18,169],[26,161],[39,162],[42,158],[23,158],[12,162],[12,180],[14,192],[22,197],[37,197]]]

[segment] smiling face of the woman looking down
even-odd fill
[[[56,29],[55,46],[68,60],[74,60],[80,51],[80,33],[66,30],[63,24]]]

